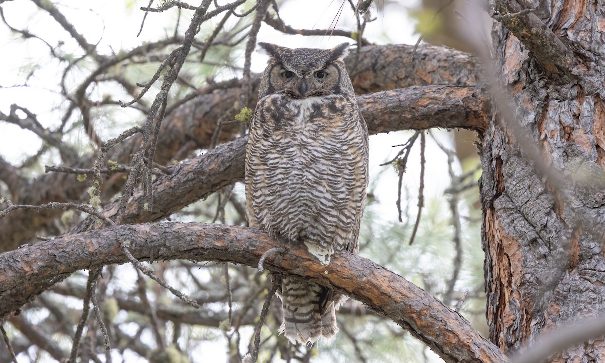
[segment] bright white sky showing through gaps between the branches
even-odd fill
[[[224,1],[219,1],[221,4]],[[130,3],[131,6],[126,6]],[[189,3],[197,5],[198,2]],[[163,34],[162,24],[172,24],[175,19],[176,9],[164,13],[150,13],[146,19],[142,35],[137,38],[143,12],[141,6],[147,6],[148,1],[81,1],[64,0],[60,2],[61,11],[73,22],[76,29],[82,33],[89,42],[99,41],[99,51],[109,53],[119,51],[120,48],[132,48],[147,40],[155,39]],[[341,1],[307,0],[304,6],[301,1],[288,1],[280,8],[280,15],[286,24],[294,28],[329,28],[334,16],[338,13]],[[376,44],[414,44],[417,34],[413,34],[413,21],[408,18],[407,9],[419,4],[418,0],[400,0],[390,2],[384,11],[373,16],[378,17],[367,26],[364,36]],[[59,27],[47,13],[33,11],[36,6],[28,1],[8,1],[1,5],[5,18],[10,25],[16,28],[28,28],[33,33],[43,36],[49,44],[56,44],[59,39],[71,39],[65,30]],[[152,6],[155,6],[152,5]],[[81,11],[79,9],[89,9]],[[71,10],[73,9],[73,10]],[[32,15],[34,14],[34,15]],[[77,14],[77,16],[73,16]],[[233,19],[230,19],[233,20]],[[344,6],[344,11],[339,18],[337,28],[354,30],[355,19],[353,12]],[[189,23],[181,20],[181,27],[187,27]],[[167,26],[168,27],[168,26]],[[73,41],[73,40],[70,40]],[[292,36],[279,33],[267,25],[263,25],[258,35],[258,41],[272,42],[287,47],[316,47],[330,48],[342,42],[353,43],[350,39],[339,37],[309,38],[304,36]],[[69,44],[67,44],[69,45]],[[73,46],[76,48],[76,45]],[[61,97],[56,94],[57,85],[61,76],[60,65],[48,54],[48,48],[41,41],[22,41],[21,38],[11,34],[8,28],[0,25],[0,111],[8,114],[10,105],[16,103],[25,106],[33,113],[38,114],[40,122],[45,126],[59,125]],[[27,80],[30,87],[11,87],[24,84],[25,77],[35,64],[40,67],[33,77]],[[243,54],[240,63],[243,65]],[[252,58],[252,71],[260,72],[266,65],[267,56],[255,52]],[[86,77],[87,70],[82,74],[74,74],[77,77]],[[145,82],[146,80],[141,80]],[[76,83],[73,83],[76,84]],[[148,95],[147,97],[153,97]],[[128,112],[124,111],[125,117]],[[139,113],[132,113],[140,119]],[[116,134],[105,134],[106,137],[115,137],[123,129],[116,129]],[[445,132],[435,132],[445,145],[453,148],[450,136]],[[380,208],[385,220],[395,220],[397,209],[395,200],[397,197],[397,176],[390,166],[381,167],[380,163],[399,151],[393,148],[407,141],[410,133],[391,132],[391,134],[379,134],[370,136],[370,174],[375,175],[388,168],[379,181],[376,188],[376,196],[381,202]],[[88,138],[81,131],[79,141],[87,143]],[[416,144],[419,144],[417,142]],[[30,131],[20,129],[18,126],[0,122],[0,155],[13,163],[22,162],[28,155],[38,151],[41,140]],[[419,146],[414,146],[409,162],[408,171],[404,176],[405,185],[410,191],[417,191],[419,175]],[[427,137],[427,168],[425,176],[425,200],[443,196],[443,189],[450,183],[447,176],[446,156],[437,151],[437,146],[430,137]],[[411,206],[415,216],[416,202]],[[80,303],[81,304],[81,303]],[[242,339],[246,342],[246,339]],[[197,358],[194,363],[209,361],[225,361],[226,346],[224,342],[217,344],[203,344],[200,351],[195,352]],[[116,356],[114,362],[119,362]]]

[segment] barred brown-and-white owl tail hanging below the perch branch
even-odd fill
[[[292,344],[311,345],[319,338],[332,338],[338,333],[338,327],[331,295],[331,291],[319,284],[301,278],[282,278],[284,321],[279,332]]]

